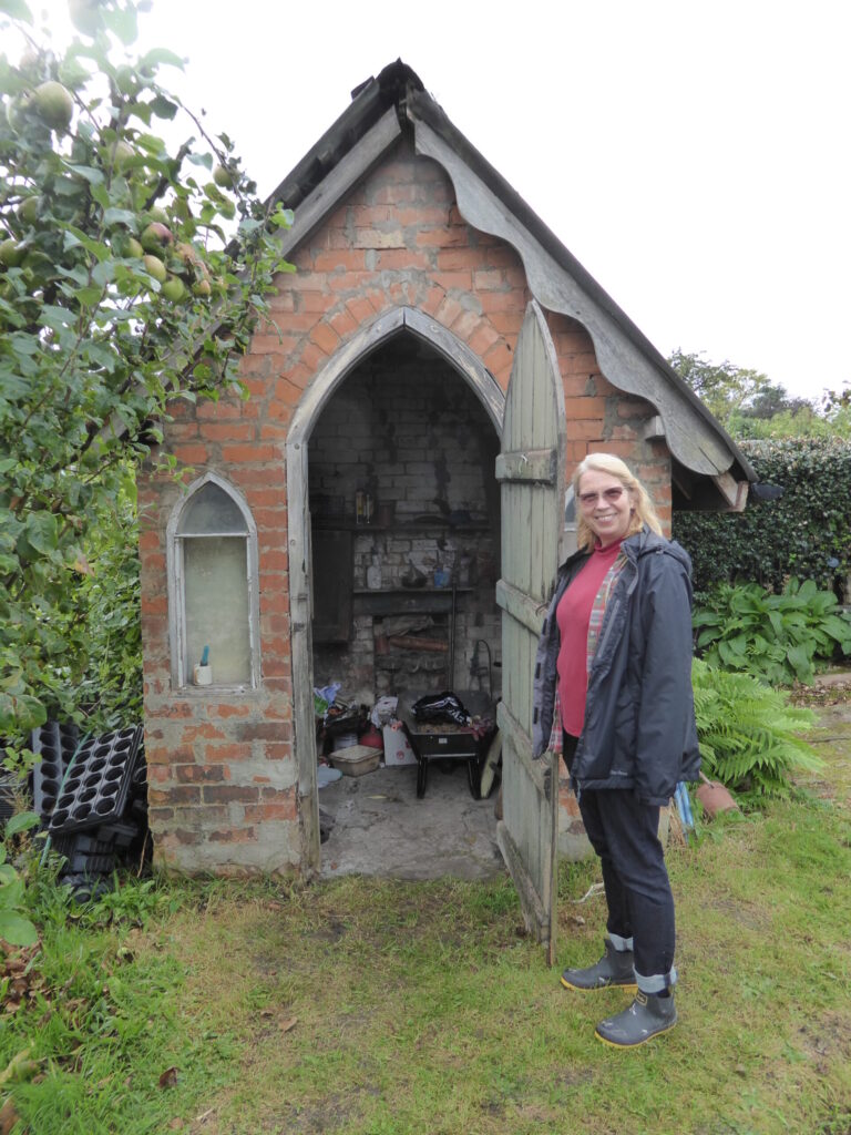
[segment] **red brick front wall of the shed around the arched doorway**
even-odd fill
[[[262,682],[258,690],[172,691],[166,524],[179,490],[140,486],[145,645],[145,747],[158,860],[182,871],[297,864],[289,658],[285,440],[317,372],[378,314],[419,308],[462,339],[505,389],[530,299],[508,245],[467,226],[433,161],[406,143],[380,163],[295,253],[273,323],[258,328],[243,375],[247,402],[172,410],[166,445],[193,476],[212,470],[245,496],[258,527]],[[275,326],[277,325],[277,326]],[[600,375],[587,331],[551,316],[567,418],[567,471],[591,449],[631,460],[669,519],[667,451],[640,440],[654,411]],[[192,479],[192,478],[188,478]]]

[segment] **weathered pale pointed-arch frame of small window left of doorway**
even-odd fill
[[[214,485],[233,501],[245,521],[245,532],[180,533],[180,521],[193,497],[205,485]],[[195,686],[192,682],[192,665],[187,658],[186,591],[185,591],[185,541],[204,539],[243,538],[245,540],[246,587],[248,589],[248,647],[251,675],[246,682],[216,682]],[[171,653],[171,686],[184,692],[209,695],[210,692],[245,692],[260,688],[260,568],[258,560],[258,529],[251,508],[243,495],[233,485],[213,472],[207,472],[194,480],[171,510],[166,530],[166,560],[168,572],[168,623]],[[213,667],[213,674],[216,670]]]

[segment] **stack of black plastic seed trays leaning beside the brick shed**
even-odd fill
[[[81,740],[76,725],[33,730],[33,805],[54,851],[59,877],[81,902],[111,889],[119,864],[137,861],[148,834],[142,726]]]

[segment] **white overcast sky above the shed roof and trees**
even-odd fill
[[[851,0],[153,0],[142,42],[263,194],[402,58],[664,354],[851,379]]]

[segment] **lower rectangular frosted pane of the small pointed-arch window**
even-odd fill
[[[251,682],[247,541],[244,537],[183,540],[186,680],[210,647],[216,686]]]

